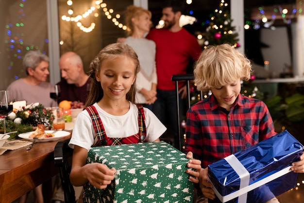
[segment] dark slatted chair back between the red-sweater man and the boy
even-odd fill
[[[180,103],[179,103],[179,94],[178,94],[178,82],[179,81],[186,81],[186,90],[187,90],[187,98],[186,98],[186,108],[189,109],[190,104],[190,81],[194,80],[193,74],[183,74],[183,75],[173,75],[171,78],[171,81],[175,82],[175,90],[176,90],[176,102],[177,102],[177,126],[178,126],[178,142],[179,146],[176,146],[176,148],[180,151],[182,151],[182,139],[181,137],[184,137],[184,134],[181,132],[181,115],[180,115]],[[201,95],[203,95],[203,92],[201,91]],[[202,97],[201,97],[202,100]],[[175,137],[174,137],[175,138]]]

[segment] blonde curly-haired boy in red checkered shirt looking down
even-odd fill
[[[208,47],[196,64],[198,89],[212,91],[187,112],[185,152],[193,152],[203,168],[197,203],[215,199],[207,182],[209,164],[276,135],[265,103],[240,94],[241,81],[248,81],[251,71],[250,61],[228,44]],[[303,159],[304,155],[293,163],[294,172],[304,172]],[[272,193],[265,195],[267,203],[278,203]]]

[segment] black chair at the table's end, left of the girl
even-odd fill
[[[76,203],[75,191],[69,180],[71,171],[73,149],[68,146],[69,139],[59,141],[54,149],[55,167],[59,167],[62,188],[65,195],[65,203]]]

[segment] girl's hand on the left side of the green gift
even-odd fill
[[[116,169],[109,169],[106,165],[101,163],[91,163],[85,165],[86,179],[99,189],[106,188],[114,180]]]

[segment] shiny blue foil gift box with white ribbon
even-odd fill
[[[287,131],[208,166],[216,200],[222,203],[265,203],[295,187],[290,170],[303,145]]]

